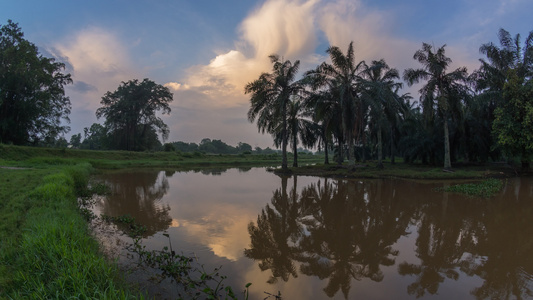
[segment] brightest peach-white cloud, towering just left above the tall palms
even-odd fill
[[[204,102],[214,107],[247,103],[244,86],[270,70],[269,55],[279,54],[285,59],[309,56],[307,60],[316,60],[312,54],[317,44],[316,4],[317,0],[265,2],[241,23],[235,49],[216,55],[207,65],[189,68],[183,81],[166,85],[174,90],[188,86],[210,97]],[[201,103],[191,104],[197,107]]]

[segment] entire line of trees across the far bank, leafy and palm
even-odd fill
[[[424,43],[413,58],[419,68],[401,74],[384,59],[357,61],[353,43],[346,52],[327,50],[330,62],[304,72],[300,62],[270,56],[272,71],[248,83],[248,119],[298,165],[298,146],[318,148],[337,163],[355,165],[372,157],[383,166],[405,162],[453,162],[519,159],[528,167],[533,155],[533,31],[522,45],[520,35],[500,29],[499,45],[481,45],[480,67],[449,70],[445,45]],[[24,39],[18,24],[0,27],[0,143],[66,146],[71,102],[64,87],[72,83],[65,65],[43,57]],[[402,81],[403,79],[403,81]],[[404,84],[420,83],[417,100],[402,93]],[[134,79],[107,92],[97,109],[103,124],[92,124],[70,144],[87,149],[158,150],[169,128],[157,113],[170,113],[173,95],[155,82]],[[172,143],[171,143],[172,144]],[[174,148],[182,146],[172,144]],[[198,151],[232,153],[219,140]],[[211,150],[209,150],[211,149]],[[196,150],[193,150],[196,151]],[[252,150],[253,151],[253,150]],[[244,151],[243,151],[244,152]]]

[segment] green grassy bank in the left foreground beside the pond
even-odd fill
[[[138,298],[117,284],[78,211],[90,169],[0,169],[0,298]]]

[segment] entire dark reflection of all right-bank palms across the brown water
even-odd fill
[[[414,277],[407,293],[437,294],[446,280],[461,276],[484,280],[473,287],[477,299],[533,297],[532,188],[506,190],[496,199],[438,197],[400,199],[394,184],[321,179],[299,194],[288,178],[271,203],[250,223],[245,256],[270,270],[269,283],[299,274],[328,280],[327,296],[349,297],[352,279],[384,279],[393,266],[395,243],[416,228],[417,262],[401,262],[398,273]],[[518,195],[521,194],[521,195]],[[509,200],[511,199],[511,200]],[[414,226],[414,227],[413,227]]]

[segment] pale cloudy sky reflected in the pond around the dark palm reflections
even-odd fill
[[[165,177],[164,174],[164,172],[159,173],[156,182],[161,182]],[[172,219],[172,225],[167,229],[167,233],[170,235],[173,249],[184,255],[198,257],[199,262],[205,266],[207,271],[222,266],[221,274],[228,276],[225,284],[231,285],[235,291],[239,291],[246,283],[251,282],[250,299],[263,299],[266,297],[264,292],[276,294],[278,290],[281,291],[284,299],[329,299],[323,291],[329,278],[320,280],[316,276],[310,277],[302,274],[299,269],[300,263],[294,262],[298,273],[297,278],[290,276],[288,282],[279,279],[276,284],[268,284],[271,270],[261,271],[258,261],[244,256],[244,249],[250,247],[248,224],[257,222],[258,214],[267,204],[272,206],[273,192],[280,188],[281,179],[261,168],[253,168],[248,172],[230,169],[216,176],[206,174],[177,172],[166,177],[169,184],[168,191],[155,205],[170,207],[169,217]],[[310,184],[319,180],[324,184],[324,179],[298,177],[298,194],[301,194],[302,188],[309,187]],[[335,182],[333,179],[329,180]],[[420,203],[441,203],[446,199],[448,207],[453,207],[453,203],[468,201],[465,197],[438,194],[433,189],[436,187],[435,184],[386,182],[388,184],[382,182],[379,185],[382,188],[380,191],[383,196],[387,193],[396,195],[397,197],[392,199],[392,202],[405,203],[413,197],[423,198],[424,196],[421,195],[429,195],[426,196],[429,201],[424,200]],[[522,185],[509,184],[508,194],[512,194],[513,198],[515,194],[530,198],[532,192],[529,183],[531,182],[524,181]],[[368,190],[362,193],[365,200],[369,200],[366,198],[372,195],[372,187],[378,186],[369,184],[369,181],[356,184],[358,187],[366,184]],[[288,193],[292,187],[293,179],[289,178]],[[461,207],[463,206],[456,205],[455,210],[451,211],[460,213]],[[463,208],[472,207],[466,205]],[[440,216],[441,212],[439,211],[438,214]],[[468,212],[465,215],[475,216]],[[449,216],[461,218],[456,215]],[[411,218],[415,217],[411,216]],[[449,223],[444,224],[449,225]],[[392,248],[398,250],[399,254],[395,257],[395,263],[392,266],[380,266],[383,272],[381,282],[374,282],[368,278],[363,278],[361,281],[350,279],[350,299],[412,299],[414,297],[407,293],[407,287],[417,280],[417,276],[400,276],[398,266],[404,262],[413,265],[422,263],[417,257],[418,226],[419,221],[411,220],[406,229],[409,234],[401,236],[393,243]],[[144,244],[149,249],[160,250],[168,246],[169,241],[160,232],[150,237],[150,240],[145,240]],[[519,265],[519,263],[515,264]],[[455,271],[460,274],[459,279],[457,281],[444,279],[439,283],[438,293],[431,295],[431,299],[468,298],[473,288],[483,285],[483,280],[478,276],[468,276],[458,268],[455,268]],[[425,296],[430,295],[426,293]],[[342,291],[339,290],[332,299],[342,298]]]

